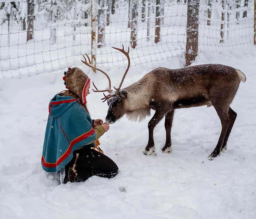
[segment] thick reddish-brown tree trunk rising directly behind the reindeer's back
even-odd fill
[[[186,66],[198,53],[199,0],[188,0]]]

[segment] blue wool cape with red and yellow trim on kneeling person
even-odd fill
[[[73,158],[74,150],[95,139],[92,119],[76,98],[55,95],[49,103],[41,159],[43,169],[59,172]],[[95,147],[94,143],[91,147]]]

